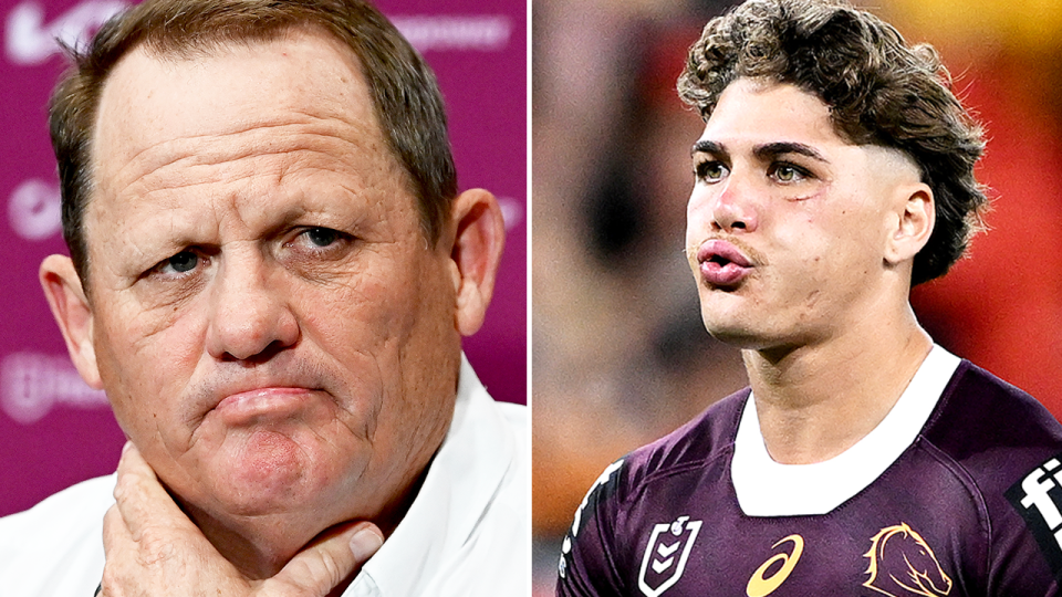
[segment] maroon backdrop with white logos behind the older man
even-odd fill
[[[63,70],[56,36],[94,31],[127,2],[0,0],[0,515],[114,470],[124,438],[106,398],[84,385],[37,281],[65,252],[45,98]],[[527,400],[527,3],[381,0],[434,66],[461,188],[498,196],[509,231],[494,301],[466,352],[496,398]]]

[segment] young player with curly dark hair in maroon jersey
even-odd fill
[[[933,49],[845,4],[751,0],[679,93],[707,124],[687,256],[751,388],[606,469],[558,593],[1056,595],[1062,427],[908,304],[986,205]]]

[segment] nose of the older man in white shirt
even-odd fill
[[[210,289],[207,349],[220,360],[269,358],[299,339],[283,272],[254,254],[226,255]]]

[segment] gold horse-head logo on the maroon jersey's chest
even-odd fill
[[[944,597],[951,579],[940,568],[933,549],[907,523],[882,528],[871,540],[871,578],[863,586],[891,597]]]

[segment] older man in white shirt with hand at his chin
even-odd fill
[[[434,76],[375,9],[149,1],[51,125],[71,256],[41,281],[131,444],[116,488],[0,522],[4,594],[524,590],[524,415],[460,349],[500,210],[457,193]]]

